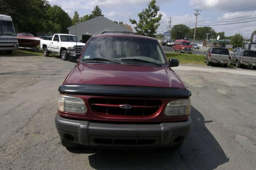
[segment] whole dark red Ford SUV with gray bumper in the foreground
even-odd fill
[[[101,34],[88,40],[59,87],[55,123],[65,147],[181,146],[190,96],[155,38]]]

